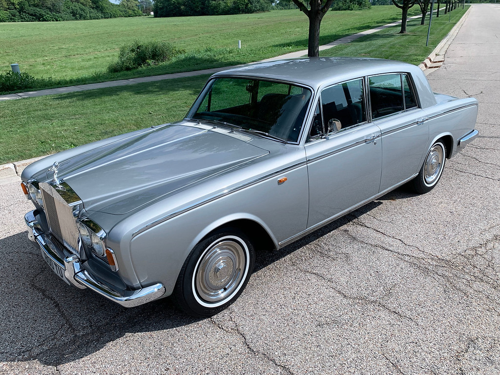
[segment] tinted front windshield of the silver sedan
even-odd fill
[[[297,142],[311,98],[308,88],[248,78],[216,78],[190,118],[226,122],[242,131]]]

